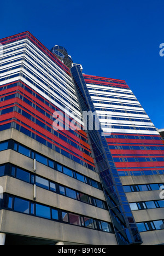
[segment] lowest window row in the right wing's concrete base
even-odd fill
[[[164,229],[164,220],[137,223],[137,228],[139,232],[162,230]]]

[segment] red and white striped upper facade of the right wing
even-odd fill
[[[126,82],[93,75],[84,78],[101,124],[111,125],[107,142],[120,176],[163,174],[161,136]],[[112,118],[107,118],[108,113]]]

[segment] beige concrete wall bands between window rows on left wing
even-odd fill
[[[54,152],[34,139],[27,137],[23,133],[10,129],[0,133],[0,141],[6,139],[14,139],[21,144],[31,148],[55,160],[62,165],[66,165],[75,171],[84,174],[87,177],[100,182],[98,173],[95,173],[86,167],[83,167],[76,162],[66,158],[65,156]],[[10,162],[16,166],[24,168],[33,173],[33,160],[27,156],[21,155],[13,150],[5,150],[0,152],[0,164]],[[83,182],[77,181],[63,173],[57,172],[48,166],[37,162],[37,172],[39,176],[50,179],[51,181],[63,184],[69,188],[88,194],[98,199],[105,200],[103,191],[91,187]],[[13,177],[0,177],[0,185],[2,185],[4,193],[20,196],[28,200],[33,200],[33,185],[20,181]],[[52,193],[51,191],[37,187],[38,203],[43,203],[51,207],[61,208],[69,212],[74,212],[87,216],[111,222],[109,212],[101,208],[88,205],[69,197]],[[86,245],[117,245],[114,234],[107,232],[86,229],[79,226],[58,223],[52,220],[47,220],[39,217],[29,216],[12,211],[0,211],[0,232],[24,235],[38,238],[45,238],[54,241],[64,241],[67,243],[81,243]]]

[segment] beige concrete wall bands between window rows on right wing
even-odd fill
[[[164,175],[154,175],[154,176],[126,176],[121,177],[121,182],[123,185],[139,185],[139,184],[155,184],[164,183]],[[139,191],[126,193],[128,202],[144,202],[144,201],[154,201],[160,199],[161,190],[155,191]],[[155,208],[149,210],[138,210],[133,211],[134,219],[136,223],[149,222],[152,220],[162,220],[164,219],[164,208]],[[143,240],[143,245],[161,245],[164,244],[164,230],[155,230],[140,232]]]

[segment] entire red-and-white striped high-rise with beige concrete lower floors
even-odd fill
[[[0,43],[1,244],[164,243],[164,146],[126,82],[30,32]]]

